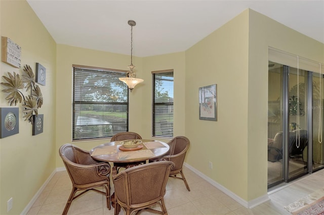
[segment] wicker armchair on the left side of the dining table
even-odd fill
[[[110,210],[109,163],[96,161],[90,156],[89,152],[71,144],[61,146],[59,154],[73,186],[62,214],[67,213],[74,199],[90,190],[104,194],[106,196],[107,207]],[[95,189],[99,187],[104,187],[105,192]],[[75,196],[78,191],[82,192]]]

